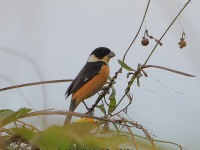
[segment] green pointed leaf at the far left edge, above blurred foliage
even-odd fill
[[[16,112],[10,109],[0,110],[0,127],[16,121],[19,117],[30,111],[31,109],[29,108],[21,108]]]

